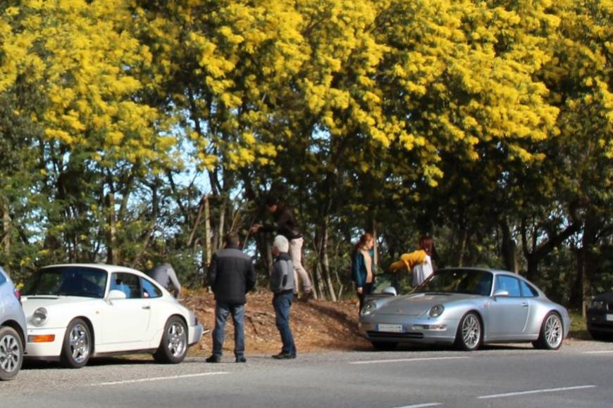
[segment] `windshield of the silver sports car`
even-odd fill
[[[441,269],[432,274],[413,293],[466,293],[489,296],[493,274],[472,269]]]

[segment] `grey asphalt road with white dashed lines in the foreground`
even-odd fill
[[[247,358],[207,364],[189,357],[178,365],[99,359],[78,370],[29,365],[0,383],[0,408],[613,406],[613,343],[572,341],[553,352],[501,345]]]

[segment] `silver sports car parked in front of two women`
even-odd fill
[[[408,295],[375,295],[360,312],[360,331],[379,350],[398,343],[454,344],[531,341],[557,350],[569,332],[566,309],[512,272],[440,269]]]

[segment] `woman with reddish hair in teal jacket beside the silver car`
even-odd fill
[[[375,284],[375,253],[373,234],[362,235],[354,248],[352,259],[352,278],[356,283],[357,295],[360,301],[359,310],[364,306],[366,295],[373,293]]]

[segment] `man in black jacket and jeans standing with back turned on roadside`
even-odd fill
[[[249,255],[239,248],[238,235],[225,237],[225,248],[219,250],[209,266],[209,285],[215,293],[215,329],[213,330],[213,354],[209,363],[221,362],[225,320],[232,314],[234,322],[234,355],[237,363],[244,363],[244,304],[247,292],[256,284],[256,272]]]

